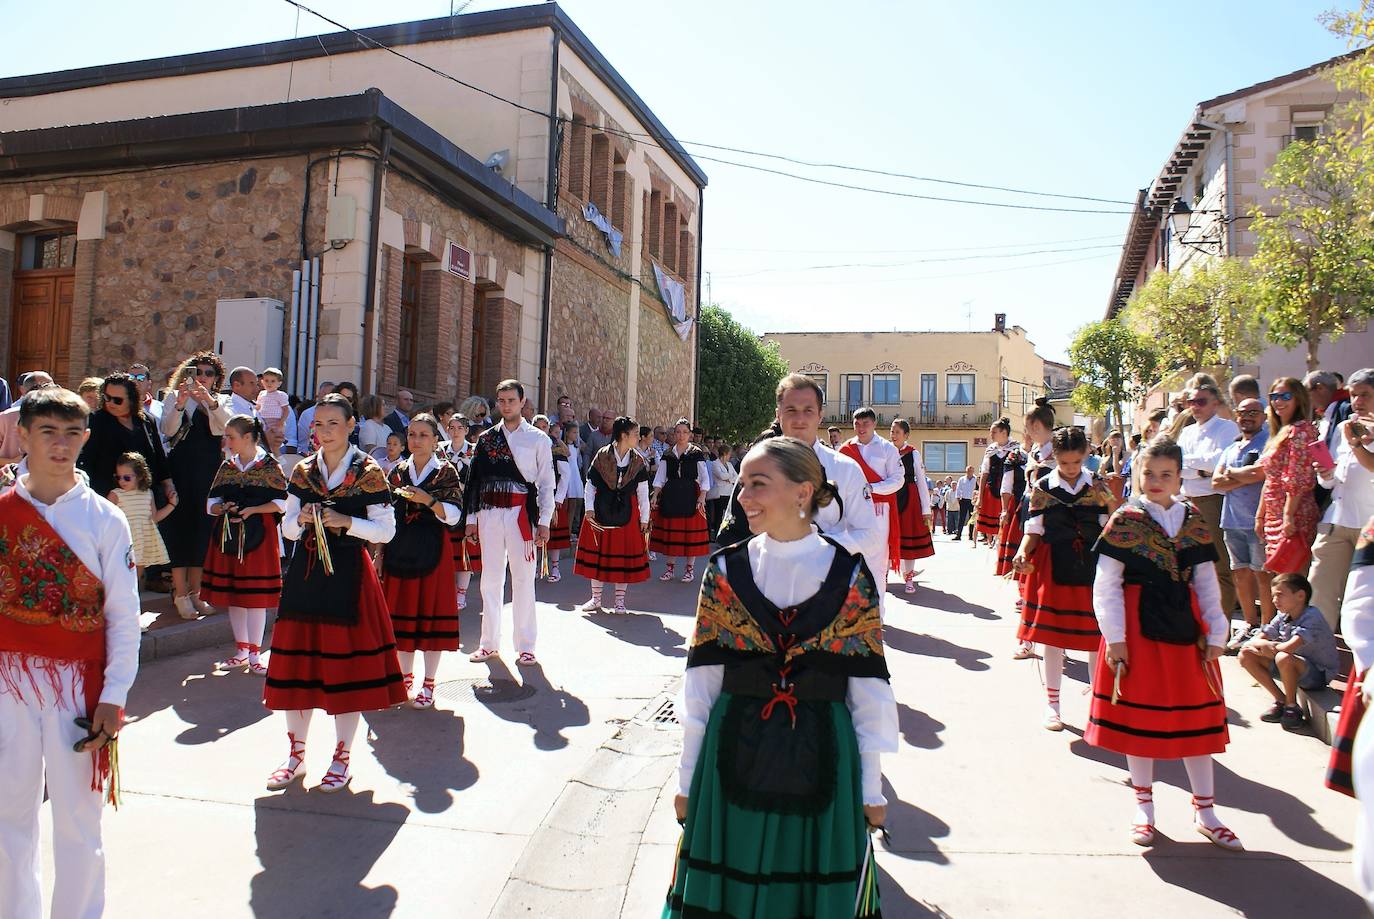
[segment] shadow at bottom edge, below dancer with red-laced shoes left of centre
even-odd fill
[[[319,791],[294,788],[254,802],[257,859],[262,871],[250,883],[258,919],[287,916],[389,916],[396,887],[364,887],[376,860],[401,831],[409,809],[375,804],[372,793],[333,795],[333,815],[311,805]],[[323,804],[323,802],[322,802]]]

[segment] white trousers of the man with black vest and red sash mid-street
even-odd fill
[[[502,607],[508,566],[515,653],[534,653],[539,632],[534,621],[534,559],[525,558],[533,543],[526,543],[519,532],[519,515],[523,512],[523,507],[496,507],[477,514],[477,537],[482,543],[482,647],[488,651],[502,647]]]

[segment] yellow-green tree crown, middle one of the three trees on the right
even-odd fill
[[[1154,342],[1165,372],[1191,375],[1227,360],[1249,361],[1263,348],[1254,279],[1234,258],[1189,272],[1151,273],[1127,305],[1124,320]]]

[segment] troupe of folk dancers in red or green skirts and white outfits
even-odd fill
[[[286,758],[267,787],[306,780],[316,710],[333,716],[334,736],[327,760],[309,760],[324,767],[315,787],[338,793],[353,779],[363,712],[434,707],[473,574],[482,574],[482,613],[470,659],[503,653],[508,577],[515,663],[534,666],[534,584],[541,566],[559,578],[551,554],[573,552],[572,570],[589,585],[581,610],[592,614],[625,613],[629,587],[651,577],[658,554],[660,580],[698,591],[679,703],[682,839],[662,915],[882,915],[881,757],[899,739],[886,585],[890,571],[899,592],[918,593],[916,565],[936,555],[932,511],[947,507],[911,424],[894,420],[889,440],[860,409],[855,437],[833,449],[820,437],[820,389],[783,378],[775,420],[743,457],[713,534],[710,456],[691,442],[687,419],[651,471],[639,423],[617,418],[583,485],[566,446],[525,420],[525,401],[518,381],[503,381],[499,419],[475,442],[462,416],[442,430],[416,413],[386,468],[350,442],[359,419],[342,396],[317,402],[317,449],[289,474],[264,449],[260,420],[224,423],[227,453],[205,499],[213,525],[201,596],[229,610],[235,650],[217,666],[262,677],[265,706],[283,713]],[[5,915],[21,919],[41,915],[44,788],[62,828],[52,915],[103,909],[100,816],[118,801],[122,709],[137,670],[131,529],[74,470],[87,412],[56,387],[25,397],[27,460],[0,489],[0,767],[12,786],[0,797],[0,889]],[[1217,666],[1228,622],[1210,529],[1180,497],[1183,451],[1167,437],[1147,444],[1135,496],[1123,501],[1085,468],[1084,433],[1057,426],[1044,400],[1025,415],[1022,442],[1011,430],[1007,418],[988,430],[971,526],[992,547],[988,576],[1015,588],[1010,657],[1043,661],[1035,677],[1026,668],[1026,691],[1044,694],[1040,727],[1080,723],[1087,743],[1123,757],[1134,810],[1123,795],[1121,826],[1136,845],[1156,842],[1156,761],[1182,760],[1191,826],[1242,849],[1215,806],[1212,757],[1228,742]],[[576,541],[565,508],[573,477],[585,506]],[[1366,529],[1344,622],[1362,677],[1374,662],[1371,570]],[[1061,703],[1068,653],[1088,658],[1085,712]],[[1374,736],[1356,731],[1363,696],[1360,680],[1352,685],[1329,775],[1347,791],[1374,783]],[[1374,826],[1360,832],[1362,846],[1374,839]]]

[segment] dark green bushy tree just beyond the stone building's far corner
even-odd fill
[[[787,374],[776,342],[763,342],[717,305],[703,306],[699,423],[731,441],[750,441],[774,419],[774,393]]]

